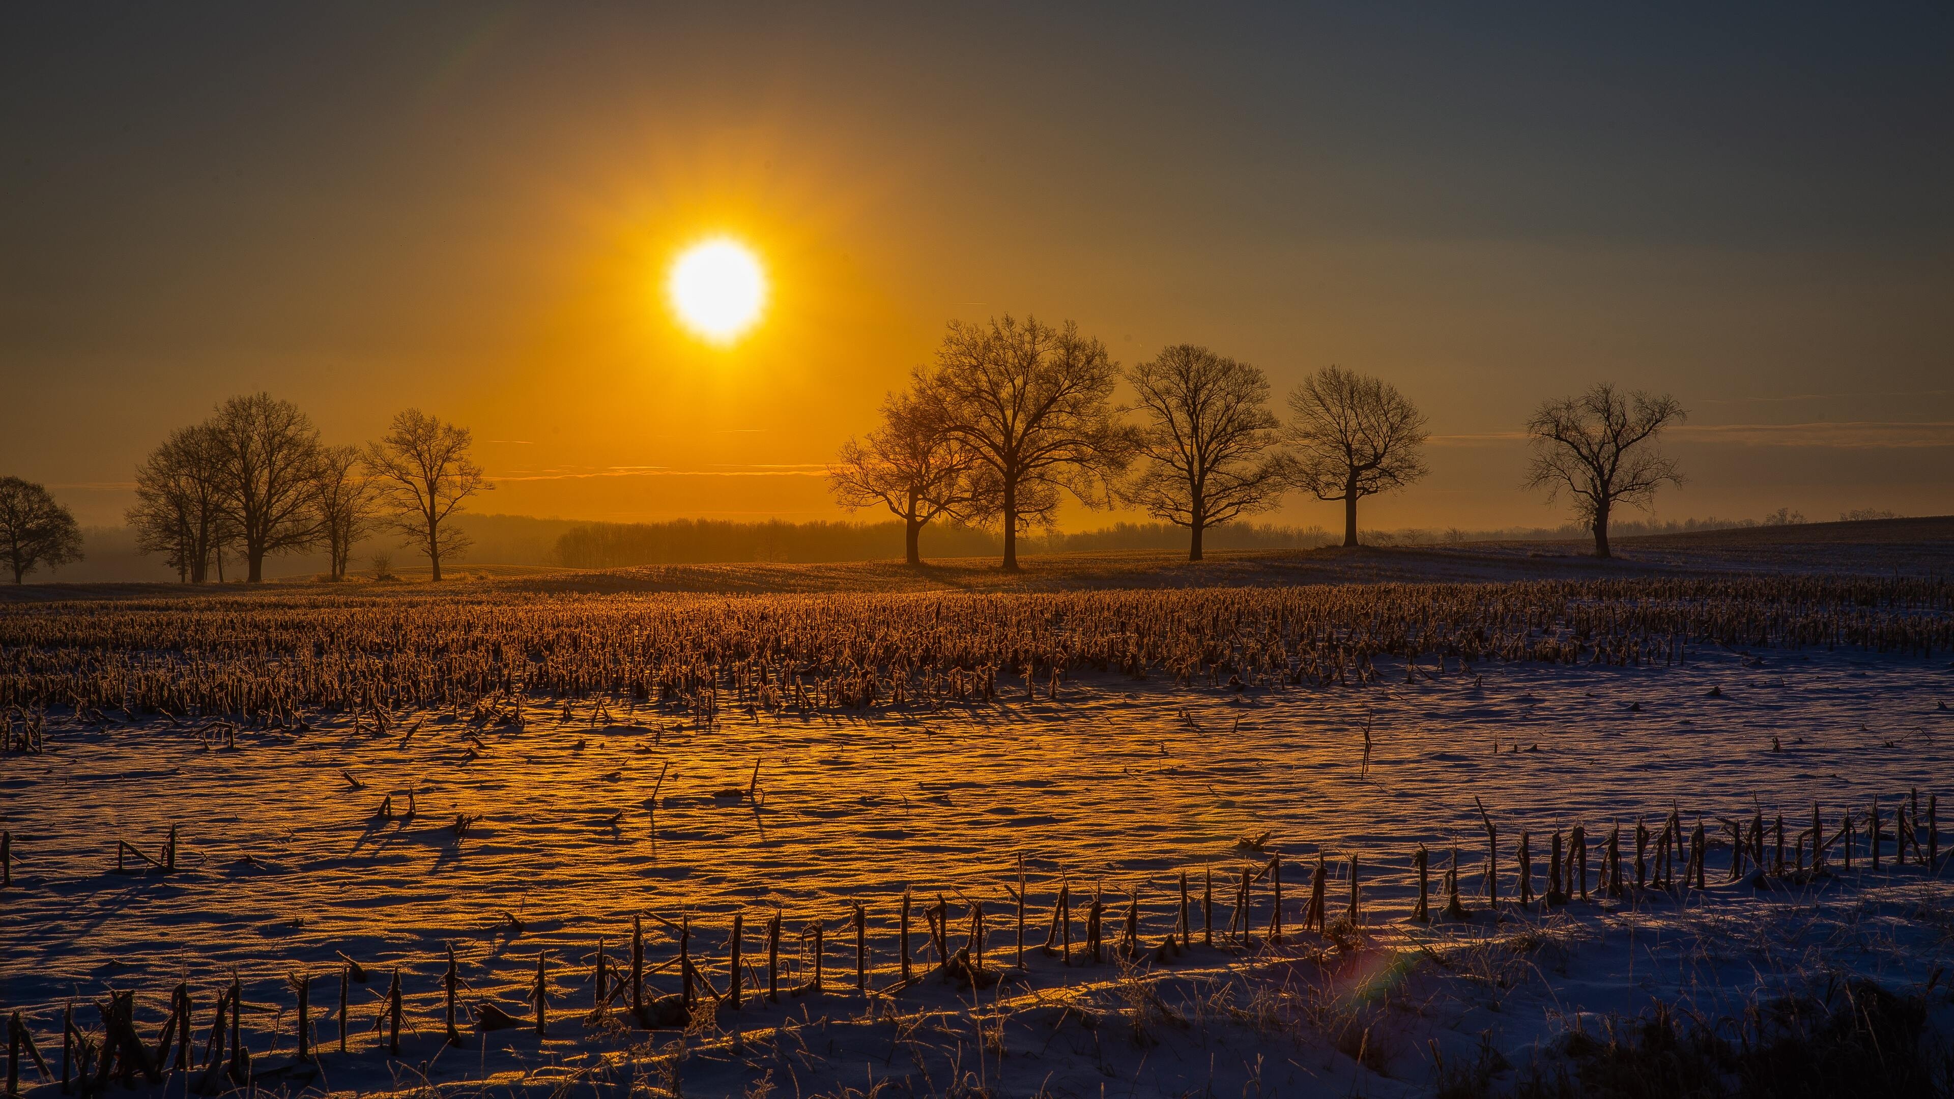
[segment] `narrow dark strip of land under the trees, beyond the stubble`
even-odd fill
[[[1270,587],[1342,583],[1483,583],[1514,579],[1604,579],[1702,573],[1954,573],[1954,516],[1882,518],[1751,526],[1690,534],[1649,534],[1614,542],[1598,559],[1581,542],[1467,542],[1460,546],[1364,546],[1325,550],[1243,550],[1188,561],[1178,551],[1120,550],[1024,557],[1004,573],[995,557],[948,557],[918,567],[903,561],[645,565],[635,569],[557,569],[545,565],[461,565],[444,591],[471,587],[524,593],[823,593],[823,591],[1073,591]],[[51,583],[0,587],[4,602],[164,598],[186,594],[406,594],[432,593],[426,569],[401,581],[317,579],[244,585]]]

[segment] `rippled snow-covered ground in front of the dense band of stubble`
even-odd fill
[[[188,982],[201,1064],[215,993],[236,974],[252,1070],[285,1091],[1499,1093],[1534,1072],[1551,1085],[1557,1072],[1593,1081],[1596,1066],[1622,1068],[1622,1050],[1647,1044],[1641,1031],[1626,1038],[1628,1021],[1657,1003],[1682,1033],[1768,1042],[1790,1025],[1770,1007],[1786,995],[1835,1007],[1872,995],[1848,976],[1923,997],[1929,1044],[1954,1031],[1954,888],[1944,866],[1929,876],[1891,862],[1893,806],[1919,788],[1925,810],[1954,774],[1944,661],[1698,647],[1680,667],[1432,677],[1426,665],[1417,682],[1401,663],[1380,671],[1383,682],[1362,688],[1239,694],[1084,675],[1057,700],[1020,692],[866,720],[727,710],[707,727],[623,702],[606,718],[580,704],[569,720],[533,706],[520,725],[420,714],[385,735],[320,716],[299,733],[242,731],[236,747],[154,720],[57,722],[47,753],[8,757],[0,782],[16,855],[0,909],[4,1005],[23,1011],[59,1074],[63,1005],[100,1029],[94,1003],[135,989],[137,1029],[152,1042],[168,989]],[[1501,919],[1409,921],[1421,843],[1434,892],[1458,847],[1467,905],[1485,907],[1475,796],[1499,827]],[[1880,872],[1860,823],[1850,872],[1723,880],[1731,851],[1718,817],[1763,808],[1796,833],[1817,802],[1833,831],[1876,796]],[[383,798],[391,817],[377,813]],[[1671,810],[1706,821],[1710,890],[1510,905],[1522,829],[1540,890],[1555,829],[1587,827],[1593,876],[1610,825],[1632,831],[1645,815],[1655,829]],[[172,825],[174,874],[133,857],[117,872],[117,839],[156,857]],[[1260,941],[1272,913],[1262,880],[1256,941],[1235,943],[1223,929],[1241,872],[1276,853],[1288,941]],[[1297,931],[1319,853],[1333,919],[1348,903],[1346,858],[1360,866],[1358,929],[1335,941]],[[1020,855],[1024,972],[1012,970]],[[1075,950],[1094,892],[1108,901],[1108,943],[1137,898],[1141,941],[1157,946],[1182,872],[1196,901],[1190,952],[1067,966],[1040,950],[1061,884]],[[1211,948],[1200,945],[1210,872]],[[924,980],[891,991],[905,890]],[[985,905],[983,958],[1002,980],[971,988],[932,972],[922,909],[938,896],[952,948],[969,903]],[[854,988],[856,901],[879,991],[870,997]],[[756,991],[776,911],[782,988],[809,980],[805,931],[821,921],[825,991],[782,991],[780,1003]],[[647,968],[676,952],[655,917],[690,919],[692,954],[721,993],[741,913],[746,1003],[700,1011],[686,1031],[625,1027],[617,1007],[590,1017],[598,941],[617,962],[633,913],[645,913]],[[463,982],[459,1046],[442,1038],[447,946]],[[479,999],[526,1011],[537,954],[549,1033],[473,1029]],[[367,972],[350,988],[344,1054],[342,956]],[[395,970],[406,1021],[403,1054],[387,1058],[373,1027]],[[313,976],[324,1050],[309,1064],[293,1064],[295,972]],[[647,995],[676,991],[676,968],[647,982]],[[1786,1003],[1804,1003],[1796,1025],[1811,1025],[1807,1001]],[[1927,1060],[1946,1068],[1940,1052]],[[219,1085],[193,1072],[162,1087],[199,1083]],[[31,1066],[23,1087],[45,1087]]]

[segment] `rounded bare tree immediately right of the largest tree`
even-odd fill
[[[1126,497],[1147,514],[1188,528],[1188,559],[1202,559],[1202,534],[1231,518],[1276,506],[1284,463],[1268,377],[1260,370],[1194,344],[1174,344],[1135,366],[1147,426],[1145,465]]]

